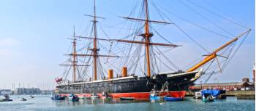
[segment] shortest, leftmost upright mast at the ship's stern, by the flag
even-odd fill
[[[73,56],[72,56],[72,67],[73,67],[73,82],[75,83],[75,75],[76,75],[76,66],[77,66],[77,61],[76,61],[76,38],[75,38],[75,26],[74,26],[74,39],[73,39]]]

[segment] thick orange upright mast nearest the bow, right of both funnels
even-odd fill
[[[145,45],[146,45],[146,64],[147,64],[147,76],[151,76],[151,69],[150,69],[150,54],[149,54],[149,43],[151,34],[149,33],[149,25],[148,25],[148,1],[145,0],[145,11],[146,11],[146,21],[145,21]]]

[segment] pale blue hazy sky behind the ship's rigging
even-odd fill
[[[118,27],[118,23],[124,21],[118,16],[129,15],[136,2],[137,0],[97,1],[97,14],[106,18],[100,21],[100,26],[106,30],[108,36],[118,35],[117,29],[110,26],[116,25]],[[251,79],[252,65],[255,63],[255,1],[195,0],[195,2],[219,15],[225,15],[225,17],[252,28],[252,32],[227,69],[222,74],[214,75],[211,82],[241,81],[241,78],[244,77]],[[228,41],[227,38],[219,38],[206,33],[206,31],[203,32],[164,10],[168,9],[189,21],[224,33],[182,4],[195,7],[191,2],[187,0],[182,0],[182,2],[156,0],[154,3],[159,9],[162,8],[162,12],[167,17],[170,17],[190,36],[195,37],[206,49],[213,50]],[[149,5],[149,9],[151,8],[152,6]],[[91,20],[91,18],[83,15],[92,14],[92,9],[92,0],[1,0],[0,89],[11,89],[12,83],[15,83],[15,87],[18,87],[20,83],[20,86],[26,87],[46,89],[48,86],[48,88],[53,88],[54,78],[60,77],[64,71],[63,67],[59,67],[59,64],[64,61],[63,54],[69,49],[70,41],[67,38],[72,34],[73,25],[75,25],[76,33],[82,34]],[[195,7],[195,9],[200,14],[211,18],[213,22],[217,22],[217,25],[225,28],[233,35],[245,31],[244,28],[210,15],[209,12],[199,7]],[[151,18],[158,20],[160,17],[152,11]],[[184,35],[178,34],[178,30],[171,26],[161,30],[161,32],[164,36],[168,36],[167,39],[173,43],[182,44],[181,48],[175,49],[170,55],[175,62],[180,62],[181,66],[206,54]],[[121,34],[125,35],[127,32]]]

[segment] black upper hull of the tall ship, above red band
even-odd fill
[[[79,83],[62,83],[56,86],[59,94],[102,94],[108,92],[116,93],[141,93],[150,92],[152,89],[161,90],[164,83],[168,83],[169,91],[187,91],[201,71],[191,73],[162,73],[151,78],[128,76],[123,78],[113,78],[110,80],[99,80]]]

